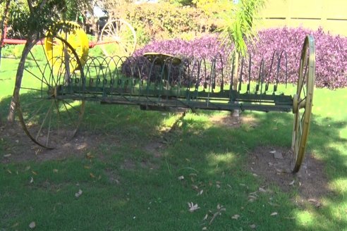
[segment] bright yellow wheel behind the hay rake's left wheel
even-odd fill
[[[59,39],[54,39],[55,36],[65,39],[73,49],[64,49],[66,46]],[[60,54],[58,60],[63,56],[71,56],[72,50],[74,50],[80,63],[84,65],[88,58],[89,42],[83,28],[78,23],[59,22],[47,32],[47,37],[44,39],[44,49],[48,58],[57,57],[56,54]],[[71,64],[75,66],[75,63]]]

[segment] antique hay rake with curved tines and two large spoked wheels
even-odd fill
[[[16,80],[15,87],[20,123],[30,139],[40,146],[51,149],[71,139],[83,118],[85,101],[138,105],[144,110],[292,111],[293,173],[300,169],[308,139],[315,81],[312,36],[306,37],[303,44],[298,87],[293,96],[276,93],[278,79],[273,91],[268,93],[269,73],[264,70],[264,61],[255,81],[251,81],[251,65],[248,65],[246,83],[243,83],[246,65],[242,62],[238,86],[234,89],[233,65],[228,68],[220,57],[207,62],[150,53],[141,60],[88,57],[83,65],[65,39],[51,40],[61,49],[51,49],[48,56],[41,39],[37,39],[37,45],[33,44],[21,58],[23,78]],[[279,65],[286,63],[286,56],[274,57],[272,65],[277,65],[278,78],[284,69]]]

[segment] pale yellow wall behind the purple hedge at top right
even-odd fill
[[[346,0],[267,0],[259,27],[322,27],[333,35],[347,36]]]

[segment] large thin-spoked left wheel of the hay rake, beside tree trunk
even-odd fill
[[[59,46],[49,56],[45,39]],[[85,111],[84,75],[73,47],[60,37],[37,39],[23,54],[17,76],[18,117],[28,137],[49,149],[72,139]]]

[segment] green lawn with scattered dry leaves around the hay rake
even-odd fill
[[[0,77],[3,121],[15,62],[1,60],[0,72],[8,68]],[[236,129],[209,120],[224,112],[198,111],[164,133],[178,115],[88,103],[81,130],[101,138],[83,157],[71,151],[62,160],[0,163],[0,230],[28,230],[32,221],[35,230],[347,230],[346,98],[347,89],[315,89],[308,151],[324,162],[324,187],[334,192],[322,208],[296,206],[296,190],[282,192],[245,168],[258,146],[291,146],[291,113],[245,112],[257,126]],[[145,148],[157,141],[162,149]],[[0,139],[1,161],[10,143]],[[188,202],[200,209],[190,213]],[[209,224],[218,205],[226,210]]]

